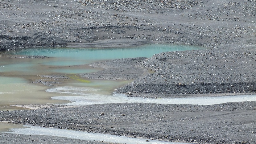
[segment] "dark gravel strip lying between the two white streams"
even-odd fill
[[[255,117],[255,104],[256,102],[217,105],[117,103],[1,111],[0,121],[152,140],[255,143],[256,125],[250,119]]]

